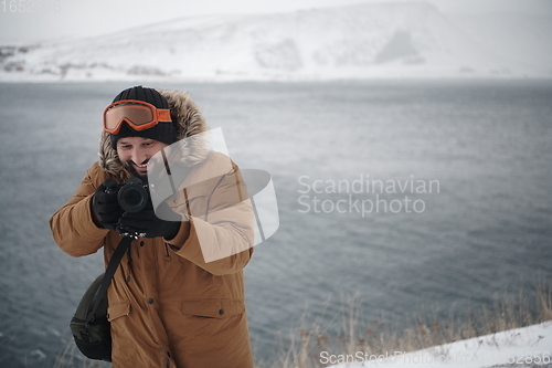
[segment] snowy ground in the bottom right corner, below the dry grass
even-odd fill
[[[552,322],[487,336],[455,341],[428,349],[401,353],[389,357],[352,356],[321,357],[321,362],[333,360],[328,368],[364,367],[433,367],[433,368],[545,368],[552,367]]]

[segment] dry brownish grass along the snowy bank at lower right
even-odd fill
[[[512,328],[552,320],[552,285],[540,282],[534,295],[524,295],[523,287],[516,296],[495,295],[492,308],[457,314],[449,311],[445,324],[438,323],[437,311],[432,317],[416,316],[410,327],[392,327],[382,315],[378,320],[362,319],[362,305],[357,296],[342,298],[341,334],[327,334],[328,324],[315,320],[291,333],[282,340],[275,361],[257,361],[257,368],[321,368],[320,353],[354,355],[392,355],[394,351],[414,351],[432,346],[453,343],[471,337],[493,334]],[[530,303],[532,301],[532,303]],[[531,308],[530,305],[533,307]],[[531,312],[534,311],[534,312]],[[302,320],[307,320],[307,314]],[[433,322],[429,322],[433,320]]]

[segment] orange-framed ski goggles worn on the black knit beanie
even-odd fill
[[[158,123],[171,123],[168,108],[157,108],[144,101],[123,99],[110,104],[104,111],[104,130],[118,134],[123,123],[127,123],[135,130],[146,130]]]

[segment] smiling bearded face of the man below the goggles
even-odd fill
[[[117,155],[130,174],[146,178],[148,170],[146,164],[167,144],[142,137],[126,137],[117,140]]]

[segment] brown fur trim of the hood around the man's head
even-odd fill
[[[191,99],[189,93],[168,90],[157,91],[169,102],[171,118],[177,128],[177,140],[209,130],[199,106]],[[180,161],[185,167],[195,166],[203,161],[209,151],[209,145],[203,139],[189,139],[183,145]],[[128,177],[128,172],[119,160],[117,150],[112,147],[108,133],[102,132],[98,155],[99,166],[104,170],[120,179]]]

